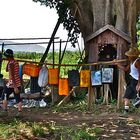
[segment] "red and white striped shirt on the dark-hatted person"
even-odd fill
[[[10,65],[11,64],[14,66],[14,69],[13,69],[14,75],[13,76],[10,73],[10,71],[11,71],[10,70]],[[18,64],[18,62],[14,59],[10,60],[7,64],[7,71],[9,72],[9,80],[8,80],[8,83],[6,84],[7,87],[10,87],[10,88],[14,87],[13,80],[16,84],[16,87],[20,87],[21,86],[21,80],[20,80],[20,75],[19,75],[19,64]]]

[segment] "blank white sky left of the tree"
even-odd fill
[[[0,18],[0,38],[50,37],[58,15],[32,0],[0,0]],[[56,36],[67,39],[62,25]]]

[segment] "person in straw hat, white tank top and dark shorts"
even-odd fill
[[[130,99],[135,99],[137,93],[140,91],[140,58],[139,50],[137,47],[131,47],[125,55],[128,57],[130,64],[123,66],[120,63],[117,63],[117,66],[124,70],[129,71],[130,73],[130,83],[126,87],[124,94],[124,110],[125,114],[129,112],[129,103]]]

